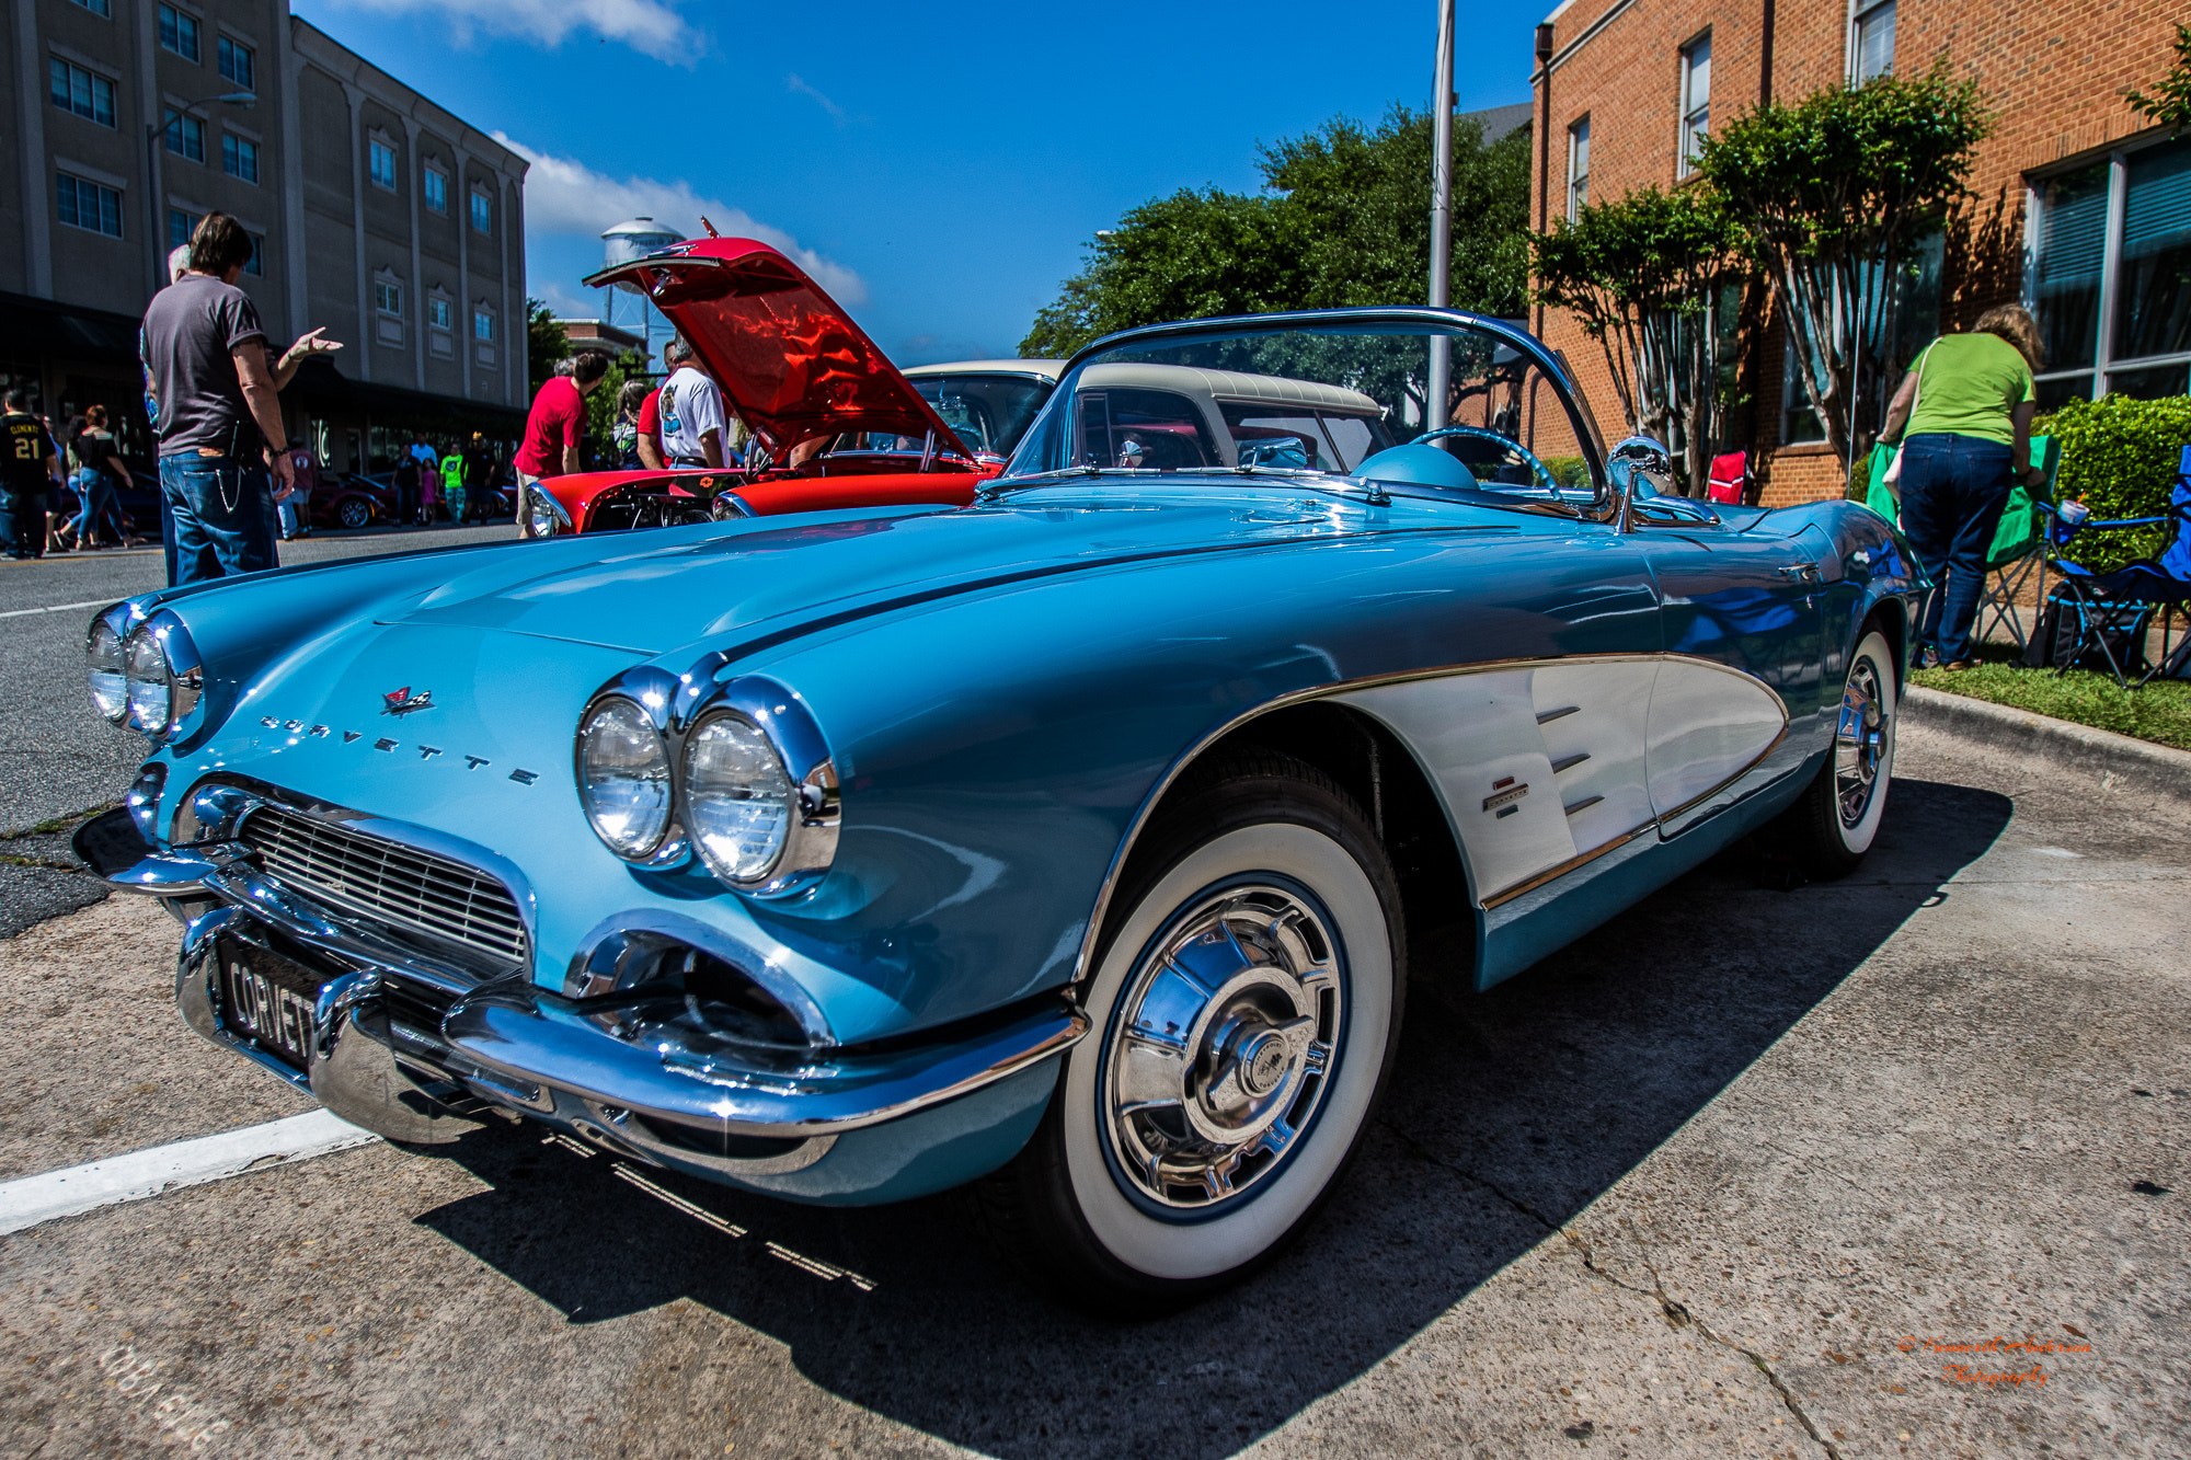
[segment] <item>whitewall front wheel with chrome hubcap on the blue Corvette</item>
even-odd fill
[[[1196,774],[1106,919],[1091,1035],[977,1204],[1008,1261],[1104,1313],[1271,1261],[1354,1155],[1400,1035],[1391,862],[1301,761]]]

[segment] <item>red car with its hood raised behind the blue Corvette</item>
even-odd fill
[[[1056,381],[1019,368],[1052,362],[901,373],[791,259],[752,239],[679,243],[587,283],[640,287],[662,309],[745,421],[752,456],[714,471],[548,478],[530,509],[532,537],[846,506],[964,506],[1003,467]],[[811,445],[819,452],[806,458],[800,447]]]

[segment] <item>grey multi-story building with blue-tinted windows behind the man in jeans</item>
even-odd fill
[[[524,425],[526,160],[287,0],[18,0],[0,33],[0,377],[142,452],[136,324],[208,210],[243,221],[283,392],[337,469],[412,432]]]

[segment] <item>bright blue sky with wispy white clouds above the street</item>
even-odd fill
[[[1529,99],[1549,9],[1461,7],[1464,110]],[[530,292],[600,313],[600,228],[653,213],[800,256],[898,362],[1010,355],[1087,239],[1255,145],[1431,92],[1435,0],[745,7],[294,0],[535,156]],[[1424,199],[1429,206],[1429,199]]]

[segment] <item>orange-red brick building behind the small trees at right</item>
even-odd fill
[[[1567,0],[1538,26],[1534,217],[1680,186],[1694,138],[1759,101],[1794,101],[1946,57],[1994,110],[1976,199],[1917,263],[1904,340],[1968,327],[2022,298],[2046,333],[2042,408],[2073,395],[2182,395],[2191,381],[2191,136],[2143,125],[2125,90],[2171,61],[2182,0]],[[1621,430],[1604,353],[1560,311],[1536,329]],[[1753,447],[1764,502],[1838,495],[1825,447],[1766,311],[1746,340],[1748,403],[1729,447]]]

